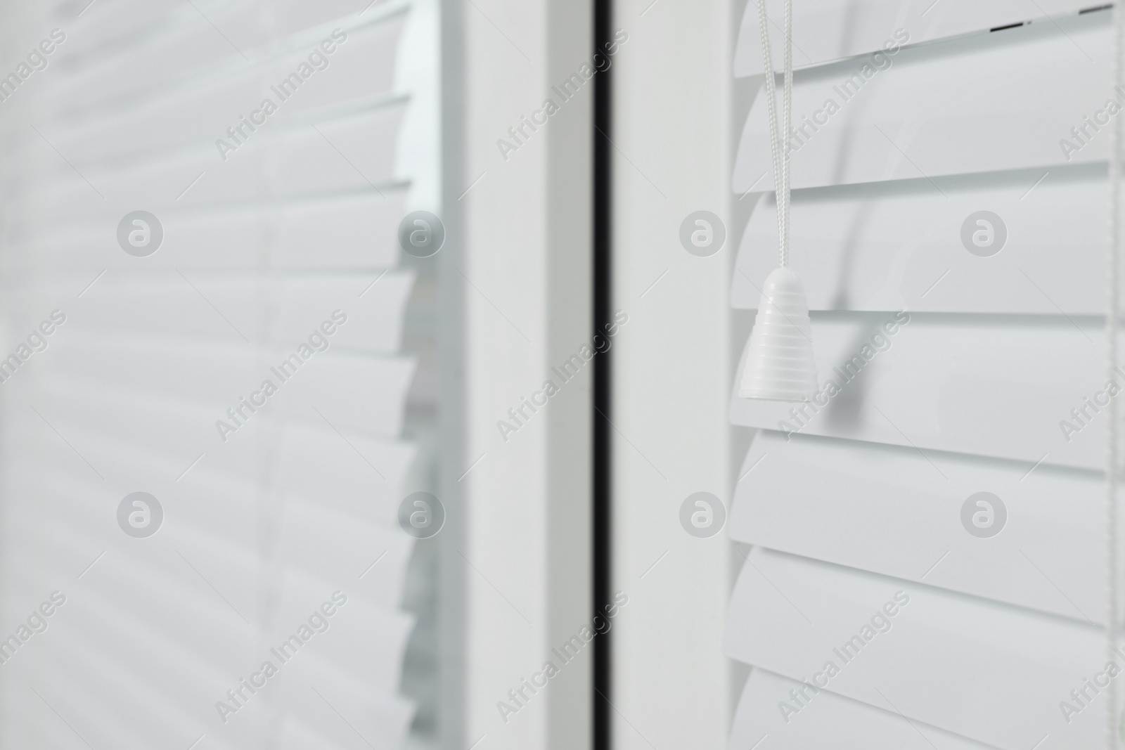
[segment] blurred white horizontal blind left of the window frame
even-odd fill
[[[0,101],[3,746],[399,746],[408,7],[3,11],[3,74],[64,36]],[[118,525],[135,491],[151,537]]]

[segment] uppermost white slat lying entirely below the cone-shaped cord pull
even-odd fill
[[[1097,473],[1046,464],[1028,473],[1014,461],[801,435],[786,442],[771,431],[758,432],[740,473],[730,516],[740,542],[1105,623],[1105,549],[1090,544],[1105,525]],[[976,493],[1004,504],[1004,516],[992,516],[997,535],[964,526],[962,507]]]

